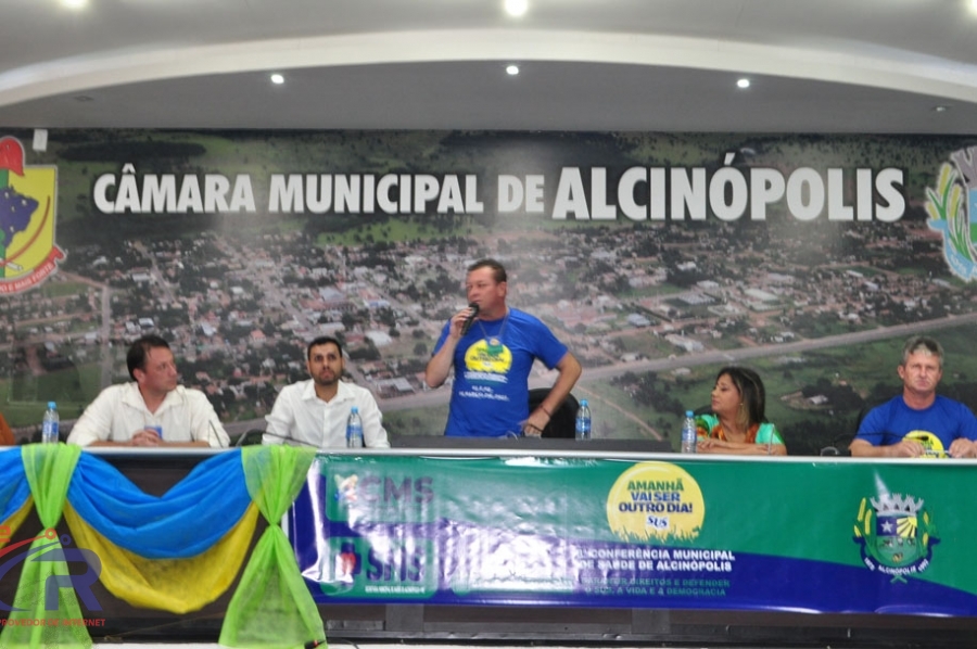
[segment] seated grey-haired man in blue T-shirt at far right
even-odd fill
[[[849,449],[860,457],[977,457],[977,418],[936,393],[943,348],[927,336],[909,339],[898,367],[902,394],[873,408]]]

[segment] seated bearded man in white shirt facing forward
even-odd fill
[[[335,448],[346,446],[346,420],[356,406],[363,419],[364,445],[389,448],[383,415],[369,390],[342,381],[343,348],[333,338],[317,338],[308,344],[307,381],[287,385],[275,399],[264,444]]]

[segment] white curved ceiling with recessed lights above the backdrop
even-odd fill
[[[2,0],[0,128],[977,132],[966,0],[529,3]]]

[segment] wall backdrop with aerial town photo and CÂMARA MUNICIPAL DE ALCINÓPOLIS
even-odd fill
[[[231,438],[337,336],[392,435],[441,434],[424,368],[466,268],[580,360],[598,440],[664,442],[719,370],[790,455],[845,447],[913,334],[977,409],[977,137],[0,128],[0,410],[67,431],[163,335]],[[537,365],[531,386],[553,384]]]

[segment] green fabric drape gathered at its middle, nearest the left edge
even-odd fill
[[[54,526],[61,520],[68,484],[81,447],[31,444],[21,453],[34,506],[48,532],[30,544],[28,551],[31,557],[24,561],[13,602],[14,608],[23,610],[11,611],[8,626],[0,632],[0,648],[91,647],[91,637],[85,626],[66,623],[83,618],[78,598],[69,584],[63,581],[59,583],[61,587],[56,590],[56,610],[48,610],[45,603],[49,577],[69,574],[64,555],[61,553],[62,539],[54,532]],[[35,552],[38,553],[35,556]],[[60,558],[54,559],[59,555]],[[42,556],[53,560],[33,560]],[[26,624],[16,624],[22,621]],[[43,624],[34,624],[36,621],[43,621]]]

